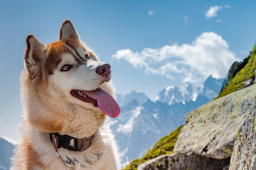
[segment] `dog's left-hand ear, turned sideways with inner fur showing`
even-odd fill
[[[45,46],[33,34],[27,35],[27,48],[25,51],[25,64],[31,75],[36,78],[40,64],[45,58]]]

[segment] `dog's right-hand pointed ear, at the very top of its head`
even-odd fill
[[[76,33],[76,30],[74,29],[70,20],[65,20],[61,25],[59,40],[64,40],[64,39],[78,39],[79,40],[79,36]]]

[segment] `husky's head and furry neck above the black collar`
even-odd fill
[[[21,88],[30,122],[67,123],[76,131],[72,124],[83,127],[89,121],[102,123],[105,114],[119,115],[110,65],[81,42],[70,20],[63,22],[58,41],[45,46],[29,34],[26,42]]]

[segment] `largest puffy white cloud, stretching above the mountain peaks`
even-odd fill
[[[229,45],[214,32],[204,32],[191,44],[165,45],[133,52],[120,49],[113,58],[125,60],[148,74],[163,75],[183,83],[202,83],[209,75],[224,78],[234,61]]]

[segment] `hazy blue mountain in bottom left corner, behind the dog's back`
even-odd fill
[[[7,141],[8,140],[8,141]],[[15,145],[9,139],[0,138],[0,170],[9,170]]]

